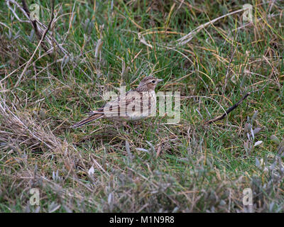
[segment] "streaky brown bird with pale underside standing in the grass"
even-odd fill
[[[121,94],[97,111],[89,112],[89,117],[75,123],[71,128],[79,128],[100,118],[121,121],[124,126],[127,126],[127,121],[138,121],[148,116],[155,116],[155,87],[162,81],[163,79],[153,76],[144,77],[136,89]]]

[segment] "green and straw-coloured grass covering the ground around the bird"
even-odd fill
[[[50,1],[35,3],[48,25]],[[253,23],[234,13],[176,42],[243,4],[55,1],[48,35],[69,56],[40,46],[19,79],[39,40],[1,1],[0,211],[283,211],[284,2],[253,1]],[[104,92],[149,74],[164,79],[157,91],[184,97],[180,123],[157,116],[129,123],[133,130],[107,120],[70,128],[104,104]],[[226,118],[204,124],[246,92]],[[32,188],[40,206],[29,202]],[[243,204],[245,188],[253,206]]]

